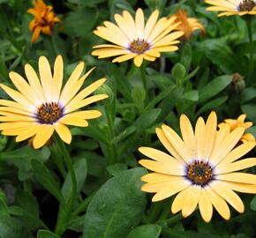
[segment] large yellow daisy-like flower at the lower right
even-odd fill
[[[199,205],[200,214],[210,221],[213,206],[224,219],[230,219],[229,203],[238,212],[244,204],[234,192],[256,193],[256,175],[237,172],[256,165],[256,158],[239,160],[252,150],[255,142],[234,147],[244,134],[244,127],[230,132],[230,125],[217,128],[217,117],[212,112],[207,123],[200,117],[195,130],[186,115],[180,117],[182,138],[167,125],[156,129],[156,134],[170,155],[150,147],[139,152],[152,160],[139,160],[139,164],[154,171],[142,176],[147,182],[141,190],[155,193],[152,200],[159,201],[177,194],[173,213],[189,216]]]

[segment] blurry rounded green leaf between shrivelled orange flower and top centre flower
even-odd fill
[[[87,33],[94,27],[98,11],[94,8],[78,8],[64,19],[64,33],[70,36],[86,37]]]

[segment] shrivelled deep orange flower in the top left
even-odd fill
[[[29,29],[33,33],[32,42],[37,41],[40,33],[50,35],[56,22],[60,21],[52,6],[44,4],[42,0],[35,0],[34,8],[28,9],[27,12],[34,16],[29,24]]]

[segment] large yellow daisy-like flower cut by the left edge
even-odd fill
[[[39,58],[39,75],[26,63],[26,79],[11,71],[9,76],[17,90],[0,84],[12,100],[0,100],[0,130],[6,136],[17,136],[16,141],[33,138],[34,148],[45,145],[54,131],[70,144],[72,134],[66,125],[87,127],[87,119],[101,116],[98,110],[80,110],[97,100],[108,97],[98,94],[87,97],[105,82],[105,78],[95,81],[82,89],[87,76],[94,70],[81,76],[84,63],[79,63],[63,86],[64,63],[57,56],[52,75],[46,57]],[[14,101],[13,101],[14,100]]]

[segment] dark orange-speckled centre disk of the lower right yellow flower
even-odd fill
[[[213,179],[213,170],[208,163],[195,160],[187,167],[187,178],[193,184],[200,186],[207,185]]]

